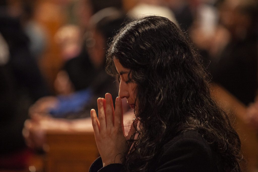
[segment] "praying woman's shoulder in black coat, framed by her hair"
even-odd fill
[[[187,131],[163,146],[157,171],[218,171],[217,153],[198,131]]]

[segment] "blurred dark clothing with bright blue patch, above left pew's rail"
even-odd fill
[[[90,117],[91,109],[98,109],[97,99],[105,97],[106,93],[112,95],[115,105],[118,96],[117,82],[114,77],[106,73],[104,69],[97,71],[94,80],[89,87],[77,91],[70,96],[57,97],[59,105],[57,108],[50,109],[53,117],[77,119]]]

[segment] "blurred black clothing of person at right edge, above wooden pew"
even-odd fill
[[[252,35],[244,40],[231,41],[217,60],[211,59],[212,80],[245,105],[254,101],[257,93],[258,39]]]

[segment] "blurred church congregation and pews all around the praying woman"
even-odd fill
[[[118,96],[108,43],[144,15],[185,32],[239,134],[243,169],[258,171],[257,0],[1,0],[0,171],[88,170],[99,156],[90,109]]]

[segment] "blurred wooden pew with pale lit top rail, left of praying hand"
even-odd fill
[[[133,117],[133,110],[124,114],[125,133],[128,133]],[[43,146],[46,151],[45,171],[88,171],[99,157],[91,119],[47,121],[42,121],[46,127]]]

